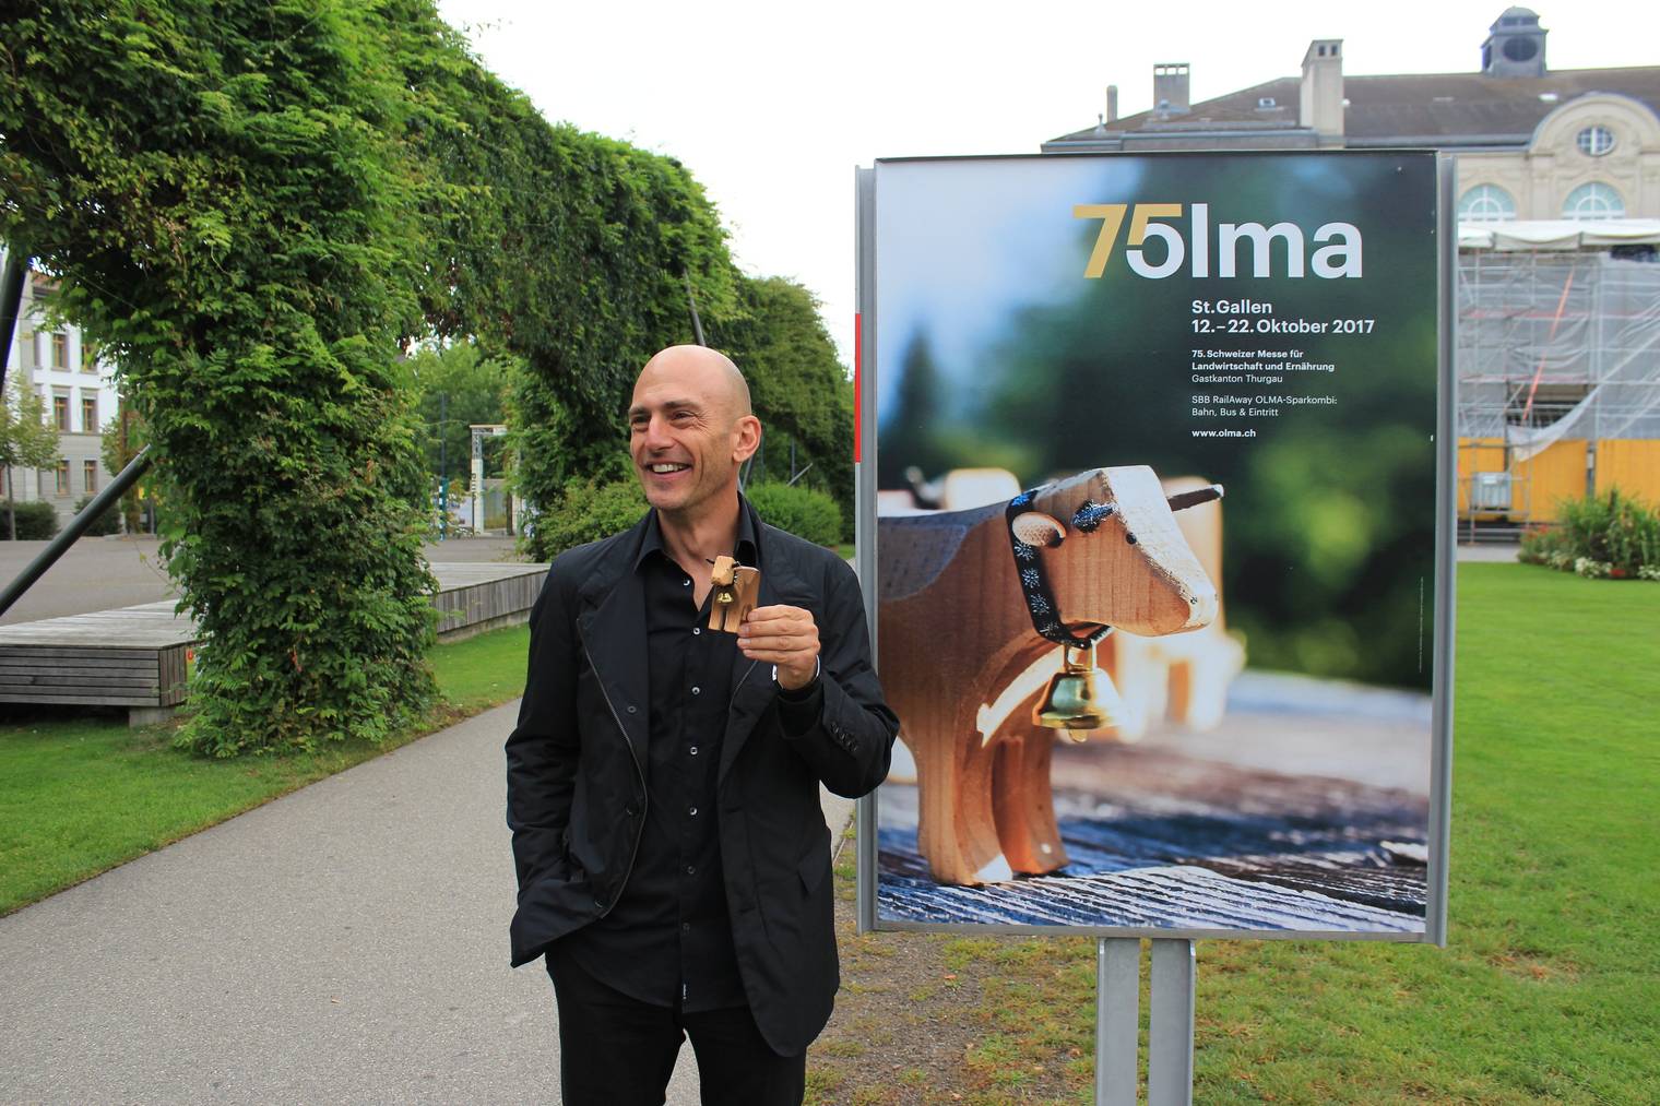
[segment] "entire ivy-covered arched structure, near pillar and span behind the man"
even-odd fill
[[[432,0],[18,2],[0,60],[0,239],[121,365],[206,752],[375,739],[432,694],[400,345],[523,362],[510,445],[551,510],[626,472],[629,387],[689,299],[764,309],[681,163],[549,125]]]

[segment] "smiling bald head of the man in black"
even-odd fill
[[[627,425],[646,500],[677,518],[735,503],[739,467],[760,445],[744,377],[701,345],[671,345],[646,362]]]

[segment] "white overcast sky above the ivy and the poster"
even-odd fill
[[[1343,71],[1472,73],[1499,0],[1137,5],[845,0],[837,5],[440,0],[443,18],[553,121],[679,158],[745,272],[818,296],[852,365],[853,168],[875,158],[1038,153],[1152,106],[1155,61],[1194,103],[1300,73],[1311,38]],[[1660,65],[1660,3],[1536,7],[1552,70]]]

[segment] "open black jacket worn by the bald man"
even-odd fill
[[[747,503],[740,510],[754,511]],[[513,965],[604,915],[622,892],[646,814],[646,609],[632,571],[649,515],[554,558],[530,616],[530,673],[506,742],[518,869]],[[838,985],[830,832],[820,781],[858,797],[888,774],[898,719],[883,702],[853,570],[755,518],[760,606],[813,613],[820,724],[779,726],[772,666],[737,658],[720,744],[720,860],[739,973],[772,1048],[798,1053]]]

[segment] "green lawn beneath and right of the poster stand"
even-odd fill
[[[1660,1103],[1657,707],[1660,585],[1459,566],[1448,947],[1200,942],[1194,1101]],[[895,958],[971,995],[918,1011],[959,1063],[815,1053],[812,1101],[1091,1101],[1094,942],[848,937],[848,1013]]]

